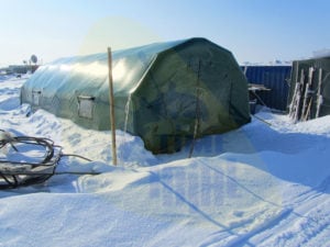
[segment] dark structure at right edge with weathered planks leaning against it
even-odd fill
[[[287,110],[296,110],[297,120],[330,114],[330,57],[293,63]]]

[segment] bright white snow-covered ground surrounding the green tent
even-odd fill
[[[293,124],[263,109],[240,130],[154,156],[139,137],[84,130],[20,105],[0,81],[0,128],[65,154],[44,184],[0,191],[0,246],[330,246],[330,116]],[[9,150],[13,153],[13,150]]]

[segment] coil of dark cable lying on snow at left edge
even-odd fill
[[[10,133],[0,130],[0,150],[11,146],[15,153],[23,150],[37,149],[43,153],[41,157],[32,158],[19,156],[19,158],[8,159],[0,157],[0,189],[12,189],[21,186],[31,186],[45,182],[52,176],[56,175],[56,166],[64,156],[74,156],[87,161],[91,161],[80,155],[68,155],[62,153],[62,146],[55,145],[50,138],[32,136],[12,136]],[[30,146],[26,148],[26,146]],[[25,159],[24,159],[25,158]],[[28,159],[28,160],[26,160]],[[59,172],[76,175],[98,175],[99,172]]]

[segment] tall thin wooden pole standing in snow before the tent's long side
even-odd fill
[[[116,153],[116,119],[114,119],[114,99],[113,99],[113,81],[112,81],[112,58],[111,48],[108,47],[108,67],[109,67],[109,105],[110,105],[110,124],[112,135],[112,162],[117,166]]]

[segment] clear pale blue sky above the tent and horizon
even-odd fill
[[[0,0],[0,65],[206,37],[239,63],[330,48],[329,0]]]

